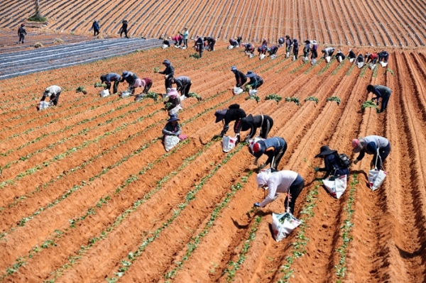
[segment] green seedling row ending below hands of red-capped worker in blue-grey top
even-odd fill
[[[244,184],[246,184],[247,179],[253,174],[253,171],[249,171],[244,177],[241,178],[241,183],[238,182],[236,184],[231,185],[231,191],[226,193],[226,197],[222,200],[220,204],[216,205],[216,208],[213,210],[209,221],[206,223],[204,228],[202,229],[202,232],[196,235],[195,237],[192,237],[190,240],[190,243],[187,243],[187,250],[185,252],[185,255],[182,257],[182,259],[178,262],[175,262],[175,267],[173,270],[170,270],[169,272],[166,272],[163,276],[165,279],[170,279],[176,276],[179,270],[182,270],[182,266],[184,265],[187,260],[190,259],[192,253],[197,249],[198,245],[200,244],[200,241],[202,238],[204,238],[207,233],[209,233],[210,228],[213,227],[214,221],[216,221],[217,217],[219,217],[219,213],[229,204],[229,201],[231,201],[231,198],[244,187]]]

